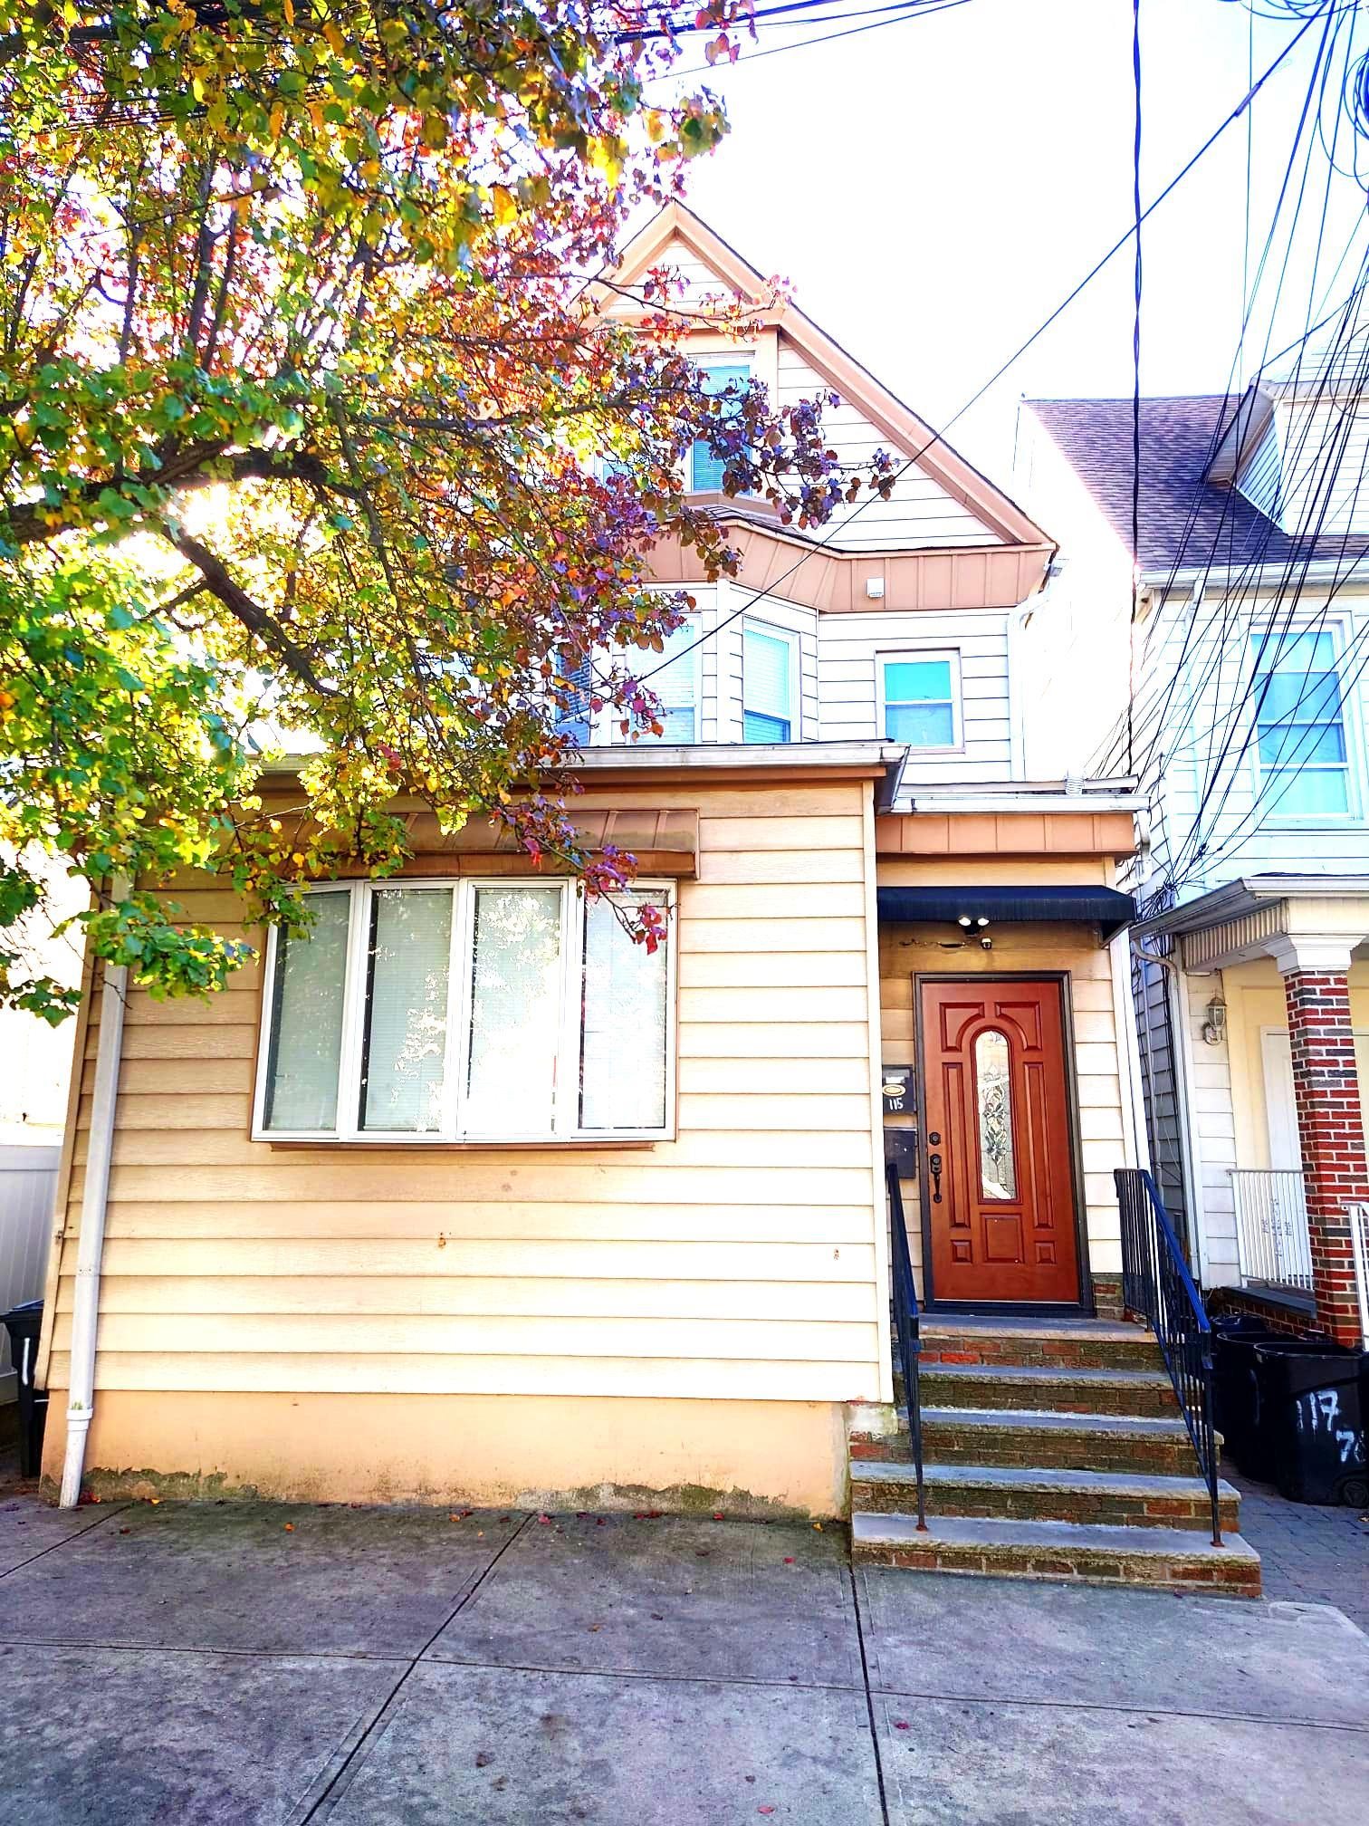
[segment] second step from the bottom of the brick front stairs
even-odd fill
[[[1210,1530],[1212,1508],[1201,1477],[1144,1472],[1081,1472],[1017,1464],[927,1464],[929,1516],[991,1516],[1002,1521],[1075,1521],[1121,1528]],[[851,1506],[891,1516],[916,1512],[913,1466],[900,1459],[852,1459]],[[1239,1527],[1239,1492],[1217,1485],[1223,1532]]]

